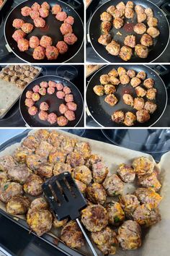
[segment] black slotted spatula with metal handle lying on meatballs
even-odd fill
[[[72,179],[71,174],[64,172],[58,176],[51,177],[42,184],[42,189],[58,221],[69,217],[71,220],[76,220],[91,251],[94,256],[97,256],[97,252],[79,221],[79,211],[86,207],[86,200]]]

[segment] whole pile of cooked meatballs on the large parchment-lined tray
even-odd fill
[[[141,245],[140,226],[151,226],[161,220],[161,196],[157,193],[161,184],[153,161],[135,158],[132,166],[122,163],[117,174],[111,175],[103,158],[91,155],[88,142],[48,130],[38,130],[24,139],[12,156],[0,158],[0,200],[6,202],[7,212],[27,213],[30,229],[39,236],[50,231],[52,225],[62,227],[63,242],[73,248],[82,247],[84,237],[75,221],[58,221],[43,197],[32,202],[27,197],[41,195],[42,182],[66,169],[87,199],[81,221],[104,255],[115,254],[119,244],[122,249],[137,249]],[[140,188],[134,194],[122,195],[124,184],[134,182],[135,176]],[[106,203],[107,197],[116,195],[120,195],[119,202],[112,198]]]

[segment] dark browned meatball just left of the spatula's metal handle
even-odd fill
[[[76,221],[66,223],[61,230],[61,240],[65,242],[68,247],[81,248],[84,246],[84,236]]]

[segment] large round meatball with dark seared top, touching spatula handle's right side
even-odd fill
[[[91,232],[101,231],[108,224],[107,210],[102,205],[89,205],[81,213],[81,222]]]

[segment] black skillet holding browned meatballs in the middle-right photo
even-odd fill
[[[91,77],[91,80],[89,81],[86,88],[86,104],[89,108],[89,112],[94,121],[97,121],[97,123],[102,127],[125,127],[124,124],[117,124],[111,119],[112,113],[117,110],[122,110],[125,112],[132,111],[133,113],[136,112],[132,107],[126,105],[122,101],[122,95],[124,93],[130,93],[131,95],[133,95],[133,98],[137,97],[134,88],[132,88],[130,84],[117,86],[115,96],[118,99],[118,103],[113,107],[109,106],[109,104],[104,101],[106,95],[97,96],[93,91],[94,85],[100,85],[99,77],[102,74],[107,74],[110,70],[117,69],[118,67],[120,66],[107,65],[105,67],[102,67],[102,69],[99,69],[99,71],[96,72],[93,77]],[[155,80],[154,88],[157,89],[155,101],[157,104],[157,109],[153,114],[151,114],[151,119],[149,121],[143,124],[140,124],[138,122],[135,124],[135,127],[151,127],[153,124],[156,123],[156,121],[158,121],[158,119],[161,118],[166,108],[167,92],[164,82],[163,80],[161,80],[161,77],[159,77],[159,75],[150,67],[144,65],[124,65],[123,67],[125,67],[126,70],[134,69],[135,72],[143,70],[146,72],[147,77],[151,77]],[[144,100],[147,101],[147,98],[145,97]]]

